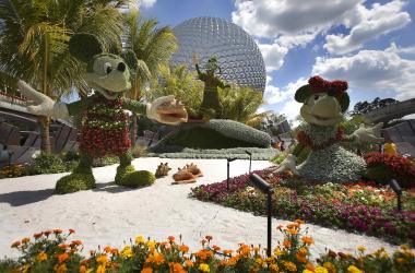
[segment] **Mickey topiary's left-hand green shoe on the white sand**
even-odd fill
[[[91,174],[71,174],[62,177],[56,183],[55,192],[66,194],[95,188],[95,178]]]

